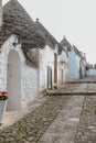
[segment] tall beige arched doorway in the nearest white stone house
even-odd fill
[[[21,108],[21,66],[17,51],[11,50],[8,55],[7,69],[7,110],[18,110]]]

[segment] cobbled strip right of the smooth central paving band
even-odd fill
[[[85,97],[75,143],[96,143],[96,95]]]

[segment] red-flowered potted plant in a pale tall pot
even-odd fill
[[[6,112],[6,107],[8,101],[7,94],[8,94],[7,91],[0,91],[0,124],[2,124],[3,116]]]

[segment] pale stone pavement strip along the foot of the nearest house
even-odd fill
[[[3,124],[0,127],[0,129],[2,130],[9,125],[12,125],[14,122],[23,118],[25,114],[32,112],[35,108],[40,107],[43,102],[47,100],[49,100],[47,96],[43,96],[43,97],[40,96],[34,101],[32,101],[32,103],[30,103],[28,107],[21,110],[7,111],[4,113]]]

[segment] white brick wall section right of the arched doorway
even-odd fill
[[[24,107],[39,96],[39,69],[26,65],[24,61],[21,66],[21,101]]]

